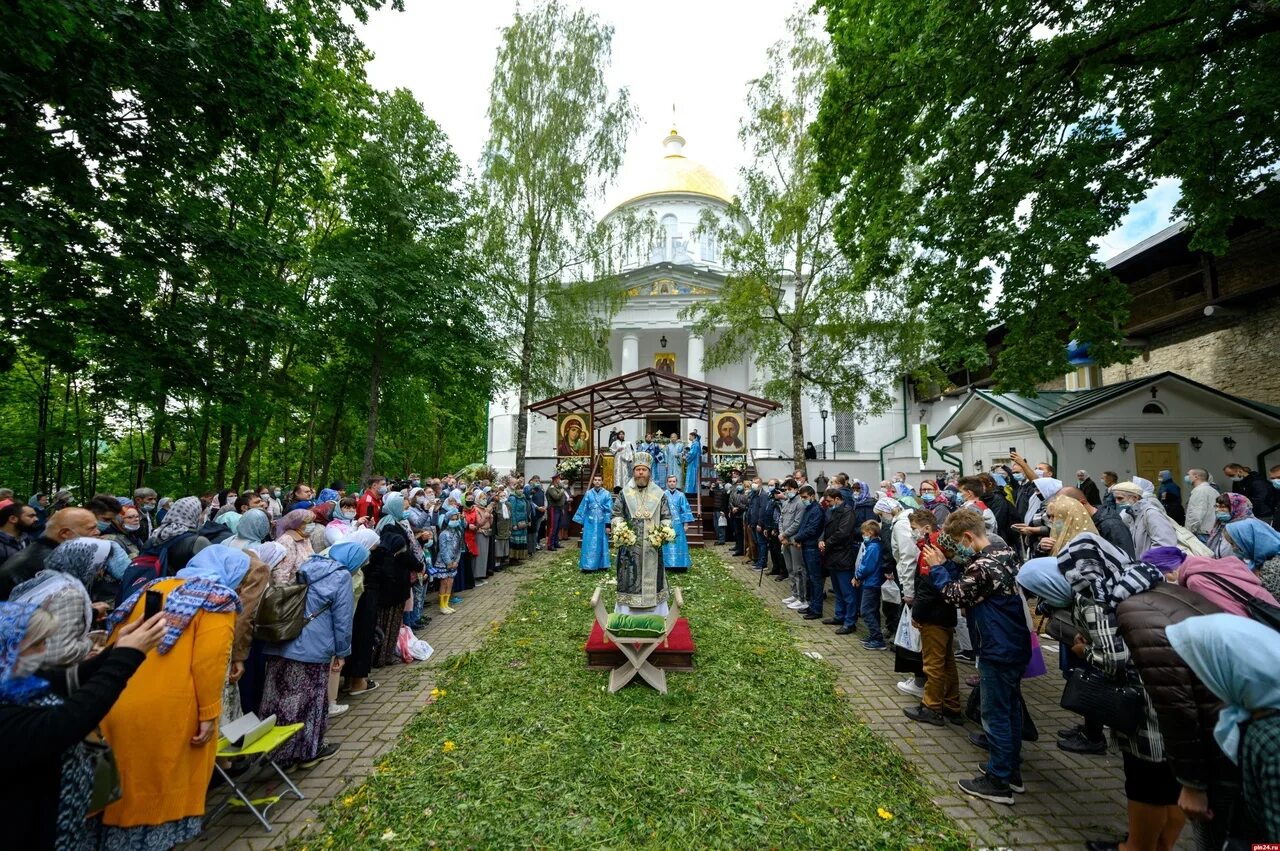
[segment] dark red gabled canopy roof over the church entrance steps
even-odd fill
[[[599,429],[654,413],[708,420],[712,411],[730,408],[741,411],[746,425],[754,425],[781,407],[758,395],[648,367],[534,402],[529,410],[548,417],[586,411]]]

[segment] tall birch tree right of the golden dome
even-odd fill
[[[707,216],[700,225],[716,229],[728,276],[719,297],[689,316],[695,333],[718,333],[705,351],[708,369],[750,357],[768,371],[764,394],[786,402],[803,465],[804,398],[882,411],[919,343],[918,324],[895,296],[870,290],[832,237],[838,196],[818,186],[809,133],[831,54],[810,15],[797,13],[787,26],[788,38],[769,49],[768,69],[748,95],[739,137],[751,159],[742,191],[724,220]]]

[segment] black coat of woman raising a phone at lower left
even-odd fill
[[[79,688],[67,695],[64,671],[41,671],[59,706],[0,704],[0,818],[5,847],[52,848],[58,837],[58,795],[63,751],[88,736],[106,717],[146,655],[113,648],[79,664]]]

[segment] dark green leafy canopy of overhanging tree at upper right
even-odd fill
[[[1175,179],[1193,247],[1275,224],[1280,6],[1234,0],[819,0],[836,67],[815,124],[846,251],[901,276],[946,367],[1002,389],[1126,357],[1128,297],[1096,241]],[[905,273],[905,274],[904,274]],[[888,285],[888,284],[886,284]],[[993,287],[998,297],[991,303]],[[1053,342],[1059,344],[1055,344]]]

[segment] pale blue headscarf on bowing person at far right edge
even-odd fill
[[[1213,738],[1239,763],[1240,724],[1260,709],[1280,709],[1280,632],[1238,614],[1202,614],[1165,628],[1174,653],[1225,706]]]

